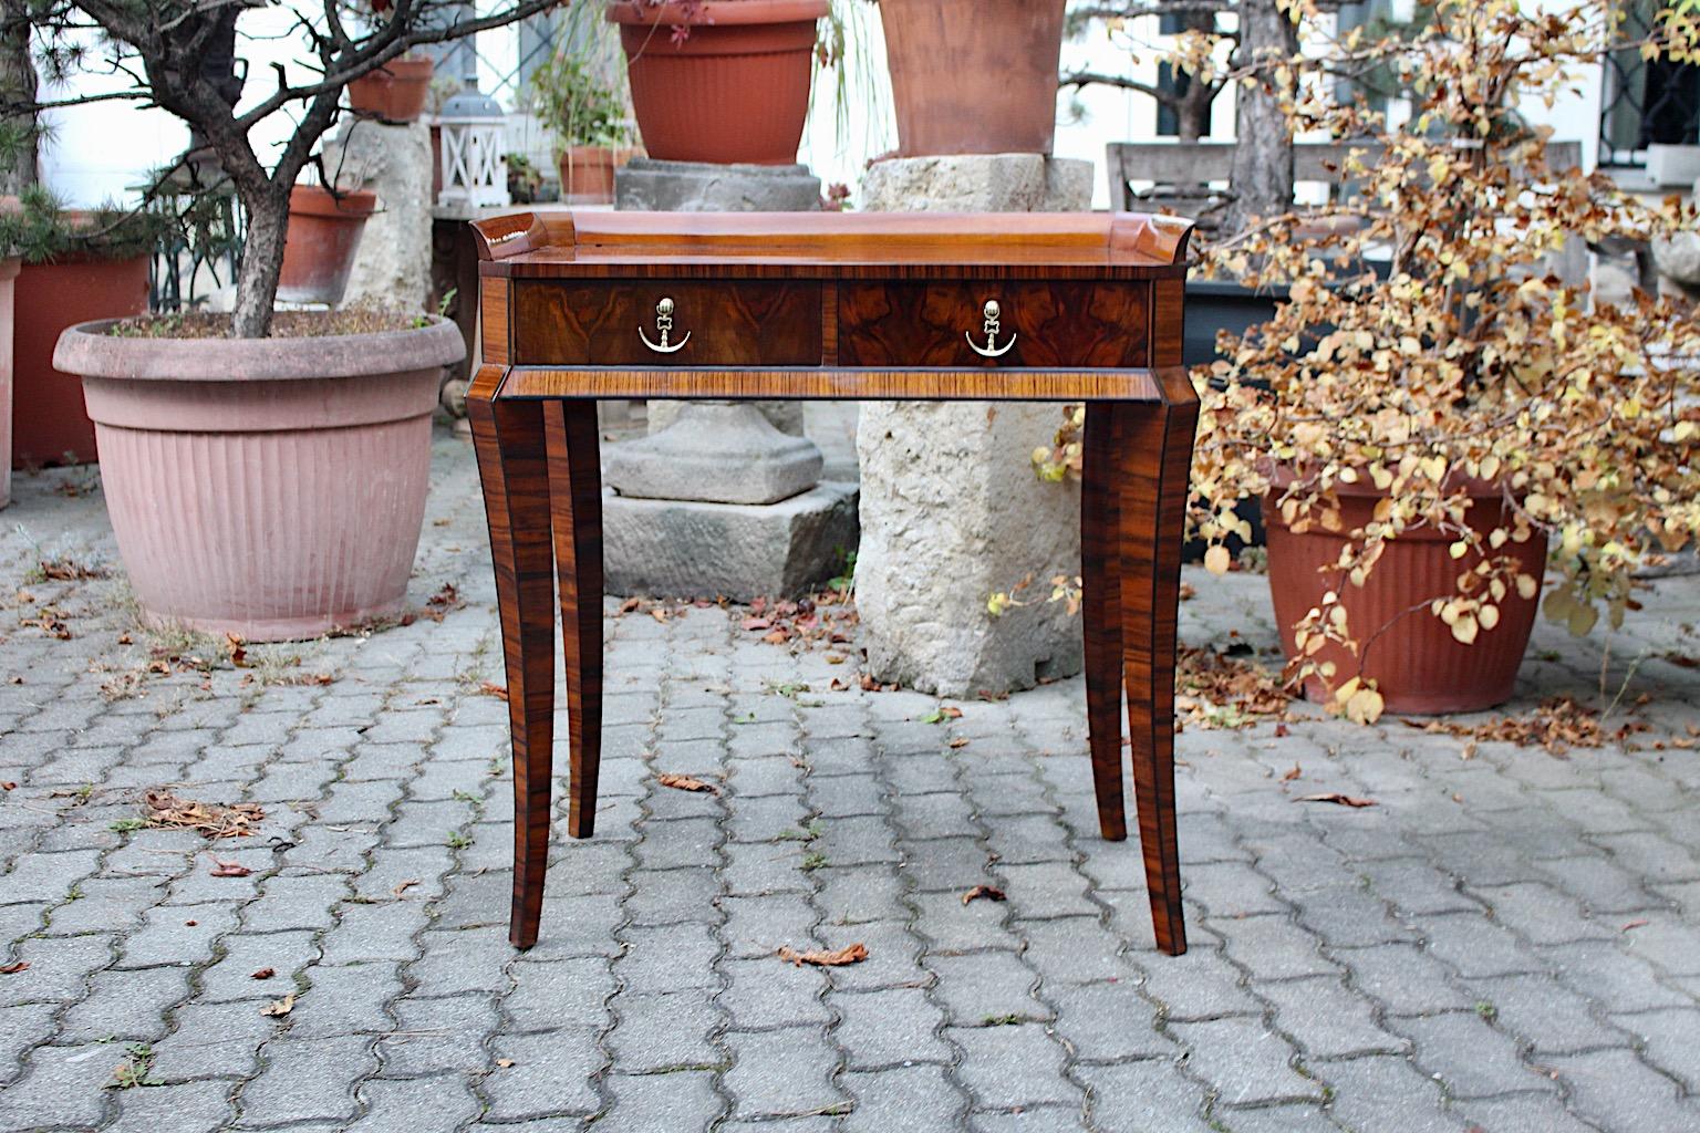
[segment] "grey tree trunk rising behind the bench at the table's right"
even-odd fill
[[[1234,200],[1222,219],[1224,236],[1292,207],[1292,131],[1275,92],[1273,68],[1297,51],[1297,27],[1275,0],[1241,0],[1234,63],[1239,68],[1258,66],[1260,71],[1236,92],[1236,143],[1229,173]]]

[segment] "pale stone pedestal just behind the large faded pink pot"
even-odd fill
[[[430,127],[350,119],[325,143],[325,172],[377,194],[343,292],[343,306],[379,302],[423,311],[430,296]]]

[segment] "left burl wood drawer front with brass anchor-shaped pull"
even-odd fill
[[[819,365],[816,282],[539,280],[513,287],[520,365]]]

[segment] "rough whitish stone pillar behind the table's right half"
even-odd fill
[[[898,158],[869,168],[862,202],[876,212],[1085,211],[1091,161]],[[1080,574],[1080,491],[1032,469],[1061,421],[1056,404],[862,406],[855,593],[877,679],[969,696],[1080,671],[1080,620],[1044,601],[1052,576]],[[988,598],[1027,576],[1018,598],[1034,605],[991,617]]]

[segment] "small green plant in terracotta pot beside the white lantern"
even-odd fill
[[[561,200],[614,200],[619,148],[631,144],[626,104],[586,63],[558,51],[539,66],[525,88],[537,121],[554,134],[561,168]]]

